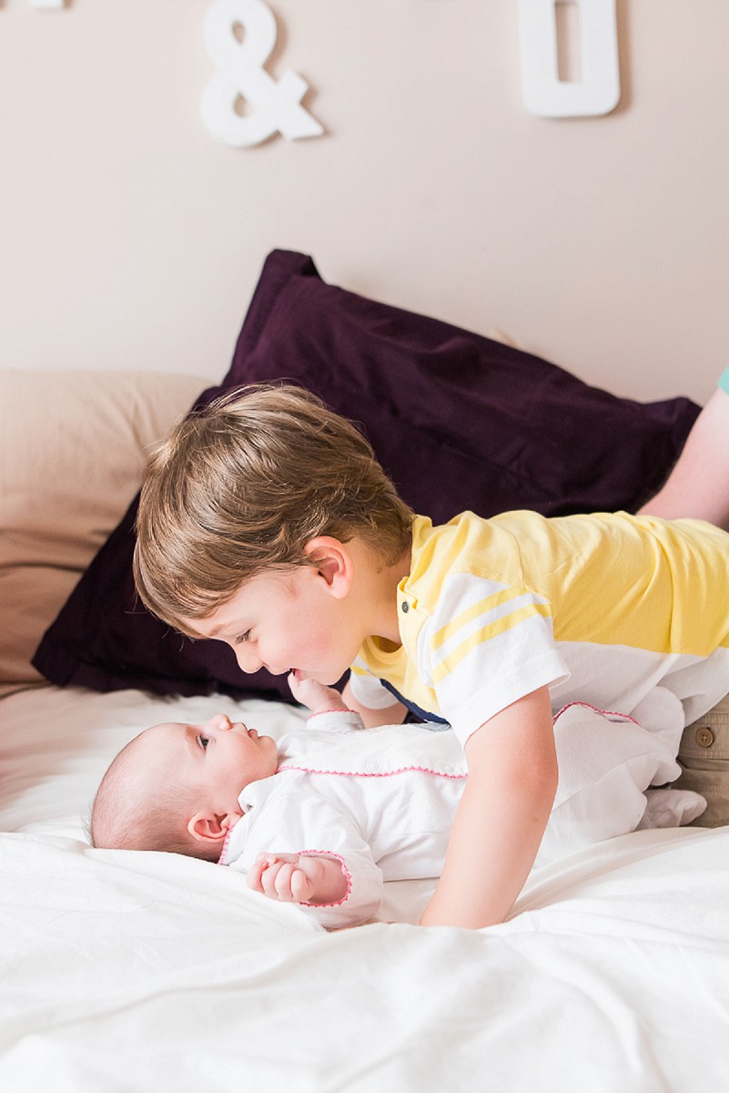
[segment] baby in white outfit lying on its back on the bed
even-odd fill
[[[94,845],[231,866],[326,928],[377,915],[385,880],[439,877],[467,778],[454,733],[361,731],[337,691],[289,682],[313,716],[278,742],[225,715],[140,733],[99,786]],[[632,718],[574,704],[554,734],[560,781],[537,866],[637,826],[691,822],[705,807],[688,791],[645,792],[668,752]]]

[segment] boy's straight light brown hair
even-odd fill
[[[207,618],[258,573],[311,564],[318,536],[359,537],[378,565],[394,564],[413,517],[355,424],[299,387],[239,388],[152,453],[134,579],[154,614],[190,633],[183,620]]]

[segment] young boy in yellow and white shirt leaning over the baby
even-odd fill
[[[368,727],[404,703],[453,727],[469,776],[422,925],[509,913],[554,798],[553,712],[620,710],[674,756],[729,691],[729,534],[626,514],[433,527],[297,388],[182,422],[150,459],[138,534],[146,606],[230,644],[243,671],[331,684],[352,666],[345,700]]]

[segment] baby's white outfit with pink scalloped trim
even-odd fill
[[[688,790],[650,790],[666,744],[631,718],[574,704],[554,719],[557,797],[535,862],[557,858],[637,826],[678,826],[701,814]],[[362,730],[352,713],[314,715],[278,741],[280,765],[248,785],[242,818],[219,863],[247,872],[260,854],[336,858],[347,879],[337,904],[302,909],[326,928],[378,914],[383,882],[437,878],[467,777],[453,732],[419,725]]]

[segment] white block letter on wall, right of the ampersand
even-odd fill
[[[572,9],[579,79],[560,79],[558,7]],[[620,99],[616,0],[518,0],[522,91],[543,118],[609,114]],[[565,21],[562,35],[566,34]],[[573,24],[574,25],[574,24]],[[563,67],[563,66],[562,66]]]

